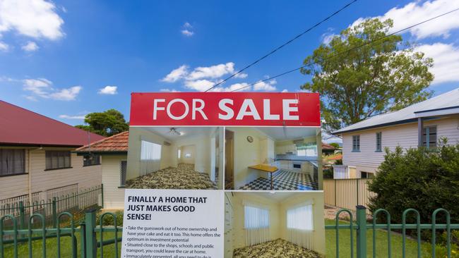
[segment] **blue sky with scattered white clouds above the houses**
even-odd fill
[[[71,125],[112,108],[129,119],[131,92],[205,89],[347,2],[0,0],[0,99]],[[301,66],[359,18],[401,28],[458,7],[359,0],[217,90]],[[436,94],[459,87],[458,29],[459,11],[403,34],[434,58]],[[295,92],[309,80],[292,73],[251,90]]]

